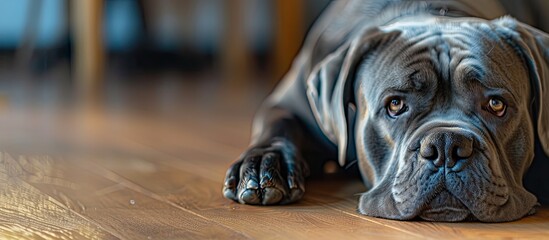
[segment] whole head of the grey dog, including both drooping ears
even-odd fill
[[[511,18],[434,18],[366,30],[317,65],[313,112],[348,145],[391,219],[510,221],[533,211],[522,178],[549,155],[549,36]]]

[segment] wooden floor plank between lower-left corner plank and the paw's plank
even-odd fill
[[[16,161],[10,160],[10,166],[20,166],[25,173],[22,174],[23,180],[42,192],[42,196],[54,199],[71,213],[89,219],[88,224],[93,223],[117,238],[248,238],[183,208],[113,182],[88,161],[84,158],[21,156]],[[20,200],[14,199],[16,202]],[[25,215],[15,223],[40,219],[42,208],[48,209],[49,206],[39,206],[33,215]],[[77,227],[86,226],[75,224]]]

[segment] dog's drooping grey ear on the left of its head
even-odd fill
[[[381,42],[388,42],[398,34],[369,29],[327,55],[309,74],[309,104],[324,135],[337,145],[341,166],[345,164],[348,149],[353,147],[348,144],[349,138],[354,136],[353,83],[357,65]]]

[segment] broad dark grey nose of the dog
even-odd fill
[[[473,136],[460,130],[431,131],[420,142],[419,154],[437,167],[453,168],[473,154]]]

